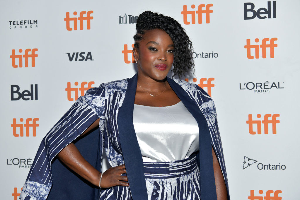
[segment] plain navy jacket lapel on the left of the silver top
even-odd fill
[[[119,138],[132,199],[148,199],[143,159],[133,125],[137,74],[128,81],[118,115]]]

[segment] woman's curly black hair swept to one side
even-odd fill
[[[139,41],[143,39],[146,31],[156,28],[166,31],[174,43],[174,76],[184,76],[184,74],[194,72],[194,61],[192,57],[192,42],[185,33],[184,28],[172,17],[162,14],[145,11],[137,19],[137,34],[134,35],[134,46],[139,49]]]

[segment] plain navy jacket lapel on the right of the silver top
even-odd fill
[[[198,123],[201,200],[217,199],[214,181],[214,166],[212,162],[211,136],[206,118],[199,109],[198,105],[193,102],[193,100],[187,95],[187,92],[184,91],[180,85],[170,78],[167,78],[167,81]]]

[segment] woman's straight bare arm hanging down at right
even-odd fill
[[[214,149],[211,147],[212,151],[212,159],[214,165],[214,181],[216,183],[216,190],[217,190],[217,199],[218,200],[227,200],[227,190],[225,181],[223,178],[223,174],[219,165],[219,161],[214,153]]]

